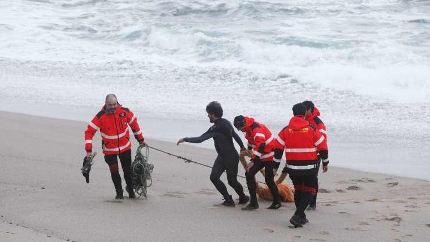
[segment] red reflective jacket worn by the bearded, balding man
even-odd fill
[[[129,126],[137,141],[143,141],[143,133],[137,123],[136,116],[118,104],[115,113],[107,113],[106,105],[88,123],[85,130],[85,150],[91,152],[92,138],[100,129],[102,135],[103,154],[121,154],[131,148]]]

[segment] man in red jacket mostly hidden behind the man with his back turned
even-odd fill
[[[323,123],[323,121],[320,119],[320,110],[317,109],[317,107],[315,107],[314,103],[311,101],[304,101],[302,102],[302,104],[306,107],[306,113],[305,113],[305,119],[306,121],[308,121],[310,124],[312,124],[315,128],[317,128],[318,131],[320,131],[325,139],[327,139],[327,131],[325,129],[325,125]],[[321,161],[320,157],[318,157],[319,160]],[[318,171],[320,170],[320,163],[318,162]],[[312,198],[311,202],[309,203],[309,207],[307,208],[307,210],[315,210],[317,208],[317,195],[318,195],[318,189],[319,189],[319,185],[318,185],[318,172],[317,172],[317,187],[316,187],[316,193],[315,196]]]

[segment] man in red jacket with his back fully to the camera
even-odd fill
[[[294,184],[296,212],[290,222],[302,227],[308,222],[304,211],[316,193],[318,153],[323,160],[323,172],[328,171],[328,150],[323,134],[305,120],[306,107],[298,103],[293,106],[294,117],[276,137],[275,159],[285,150],[286,164],[282,170],[288,173]]]

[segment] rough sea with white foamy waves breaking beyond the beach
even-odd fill
[[[331,146],[372,151],[367,170],[428,168],[429,13],[429,0],[4,0],[1,110],[88,120],[113,92],[140,116],[201,122],[187,131],[198,133],[218,100],[227,118],[277,132],[313,100]]]

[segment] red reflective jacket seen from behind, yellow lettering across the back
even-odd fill
[[[318,153],[323,165],[328,164],[328,149],[323,134],[301,116],[290,119],[276,137],[275,159],[285,150],[287,172],[299,175],[317,171]]]

